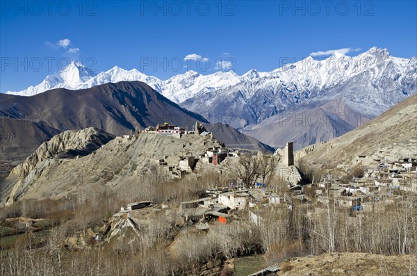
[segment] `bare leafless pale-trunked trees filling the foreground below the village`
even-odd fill
[[[260,172],[262,164],[270,162],[270,157],[244,156],[235,172],[246,186],[263,174],[270,181],[268,188],[286,195],[286,204],[245,209],[230,224],[211,225],[207,234],[184,227],[172,209],[155,214],[140,237],[128,232],[122,240],[91,241],[85,249],[65,247],[70,236],[102,225],[107,212],[136,200],[178,203],[197,198],[218,181],[218,174],[197,181],[167,181],[158,174],[149,181],[126,182],[119,190],[97,183],[63,200],[26,200],[2,208],[1,220],[26,216],[50,218],[55,224],[41,244],[35,245],[35,234],[26,232],[14,247],[0,250],[0,275],[199,275],[208,268],[220,273],[224,260],[254,253],[265,254],[270,264],[322,252],[416,254],[416,195],[398,191],[402,200],[368,202],[359,212],[336,206],[332,195],[329,202],[300,201],[270,177],[271,172]]]

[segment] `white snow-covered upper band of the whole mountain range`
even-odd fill
[[[392,77],[398,86],[410,85],[410,88],[415,90],[416,64],[416,58],[395,58],[390,56],[386,49],[373,47],[354,57],[338,53],[325,60],[308,57],[272,72],[250,70],[239,76],[233,71],[219,71],[208,75],[188,71],[163,81],[136,69],[124,70],[117,66],[96,75],[81,63],[73,62],[60,72],[47,76],[37,86],[30,86],[19,92],[8,91],[6,94],[33,96],[54,88],[79,90],[109,82],[142,81],[177,104],[197,95],[214,93],[221,97],[222,93],[218,93],[220,90],[224,91],[232,87],[234,87],[232,90],[239,88],[245,99],[254,97],[260,90],[285,88],[286,91],[292,92],[293,99],[288,99],[288,102],[299,103],[314,96],[314,92],[340,86],[364,72],[370,77],[369,84]],[[404,91],[407,94],[409,92],[412,93],[412,90]]]

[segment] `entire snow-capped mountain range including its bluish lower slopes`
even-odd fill
[[[317,108],[334,99],[343,99],[347,109],[362,115],[379,115],[416,94],[416,79],[417,58],[396,58],[386,49],[373,47],[354,57],[338,53],[325,60],[308,57],[272,72],[250,70],[239,76],[232,71],[208,75],[188,71],[165,81],[120,67],[95,75],[84,65],[71,63],[38,86],[7,93],[31,96],[53,88],[78,90],[109,82],[142,81],[210,122],[225,122],[250,133],[269,117]],[[259,134],[255,138],[270,142]]]

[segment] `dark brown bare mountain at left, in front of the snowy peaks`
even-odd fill
[[[1,177],[23,161],[41,143],[61,131],[96,127],[115,136],[169,122],[192,130],[195,122],[208,121],[187,111],[140,81],[106,83],[84,90],[57,88],[22,97],[0,94]],[[213,129],[213,134],[219,128]],[[10,136],[10,137],[9,137]],[[267,145],[240,133],[247,144],[238,148],[272,151]],[[233,139],[226,145],[237,144]]]

